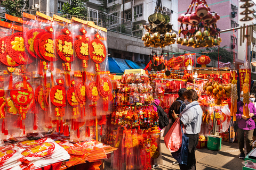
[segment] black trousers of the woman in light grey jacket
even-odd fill
[[[198,134],[186,134],[188,139],[188,164],[179,165],[181,170],[195,170],[196,169],[196,146],[198,143]]]

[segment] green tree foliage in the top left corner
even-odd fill
[[[5,0],[1,3],[5,7],[5,13],[22,18],[23,9],[28,9],[29,0]]]

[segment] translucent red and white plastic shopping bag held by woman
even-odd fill
[[[173,123],[171,129],[164,137],[165,146],[171,151],[178,151],[182,144],[182,132],[180,127],[180,118]]]

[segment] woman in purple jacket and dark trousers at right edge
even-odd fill
[[[237,140],[238,140],[238,147],[240,150],[240,156],[239,158],[244,159],[244,132],[246,134],[245,140],[246,140],[246,151],[247,154],[252,150],[252,135],[253,131],[255,129],[255,122],[253,118],[256,118],[256,108],[252,102],[249,103],[248,107],[250,109],[250,118],[246,118],[243,114],[243,91],[241,91],[240,94],[240,101],[237,102],[237,113],[236,113],[236,121],[238,125],[237,129]],[[252,100],[252,99],[251,99]]]

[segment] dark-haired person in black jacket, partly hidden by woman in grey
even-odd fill
[[[187,89],[182,88],[182,89],[180,89],[180,90],[178,91],[179,97],[172,103],[172,105],[171,105],[171,107],[170,107],[170,109],[169,109],[168,116],[169,116],[169,119],[171,119],[171,126],[172,126],[172,124],[175,122],[174,118],[172,117],[172,113],[173,113],[173,111],[174,111],[175,113],[180,113],[180,106],[181,106],[182,103],[181,103],[180,101],[178,101],[178,100],[181,100],[181,101],[185,102],[185,98],[183,97],[183,93],[184,93],[186,90],[187,90]],[[186,104],[186,103],[185,103],[185,104]],[[171,128],[171,126],[170,126],[170,128]],[[166,129],[166,130],[167,130],[167,129]],[[169,131],[169,130],[167,130],[167,131]],[[166,132],[166,133],[167,133],[167,132]],[[164,133],[164,134],[166,134],[166,133]],[[178,162],[173,162],[172,164],[173,164],[173,165],[179,165]]]

